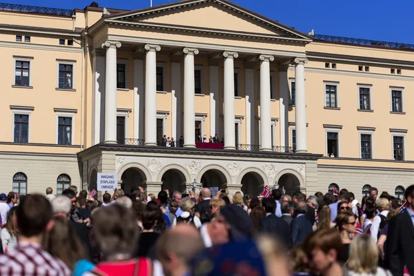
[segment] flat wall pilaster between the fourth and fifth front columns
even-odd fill
[[[246,68],[246,144],[255,144],[255,70]]]

